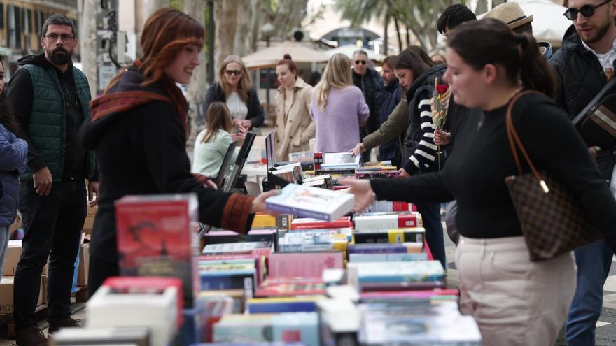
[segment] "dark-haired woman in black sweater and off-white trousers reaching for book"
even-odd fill
[[[484,345],[553,345],[576,286],[573,254],[531,262],[505,185],[519,175],[505,128],[512,120],[538,171],[561,182],[616,248],[616,201],[566,113],[550,99],[552,70],[535,39],[493,19],[469,22],[447,38],[447,73],[456,103],[482,110],[456,135],[443,171],[407,179],[343,180],[361,209],[376,199],[457,199],[456,268],[462,312],[477,320]],[[524,165],[526,166],[526,165]],[[524,167],[526,171],[528,167]]]

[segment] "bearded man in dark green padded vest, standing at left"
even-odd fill
[[[71,319],[71,286],[86,214],[85,179],[92,193],[94,153],[78,143],[90,118],[90,86],[73,67],[77,47],[73,22],[52,15],[41,31],[43,53],[19,60],[8,85],[8,100],[28,142],[27,173],[20,177],[24,222],[23,252],[15,271],[15,330],[18,345],[47,345],[36,326],[41,272],[49,258],[49,333],[78,326]]]

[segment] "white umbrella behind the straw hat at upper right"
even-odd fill
[[[565,31],[571,26],[563,13],[566,7],[551,0],[513,0],[519,3],[524,14],[533,15],[533,36],[537,41],[548,41],[560,47]],[[485,14],[485,13],[484,13]],[[482,17],[480,15],[479,17]]]

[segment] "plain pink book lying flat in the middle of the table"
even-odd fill
[[[342,252],[279,252],[269,255],[269,277],[323,277],[323,269],[342,269]]]

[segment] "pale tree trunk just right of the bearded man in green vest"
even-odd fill
[[[92,99],[96,97],[98,76],[97,76],[97,47],[96,47],[96,12],[97,1],[84,0],[83,13],[80,20],[79,45],[81,52],[81,66],[87,81],[90,83],[90,94]]]

